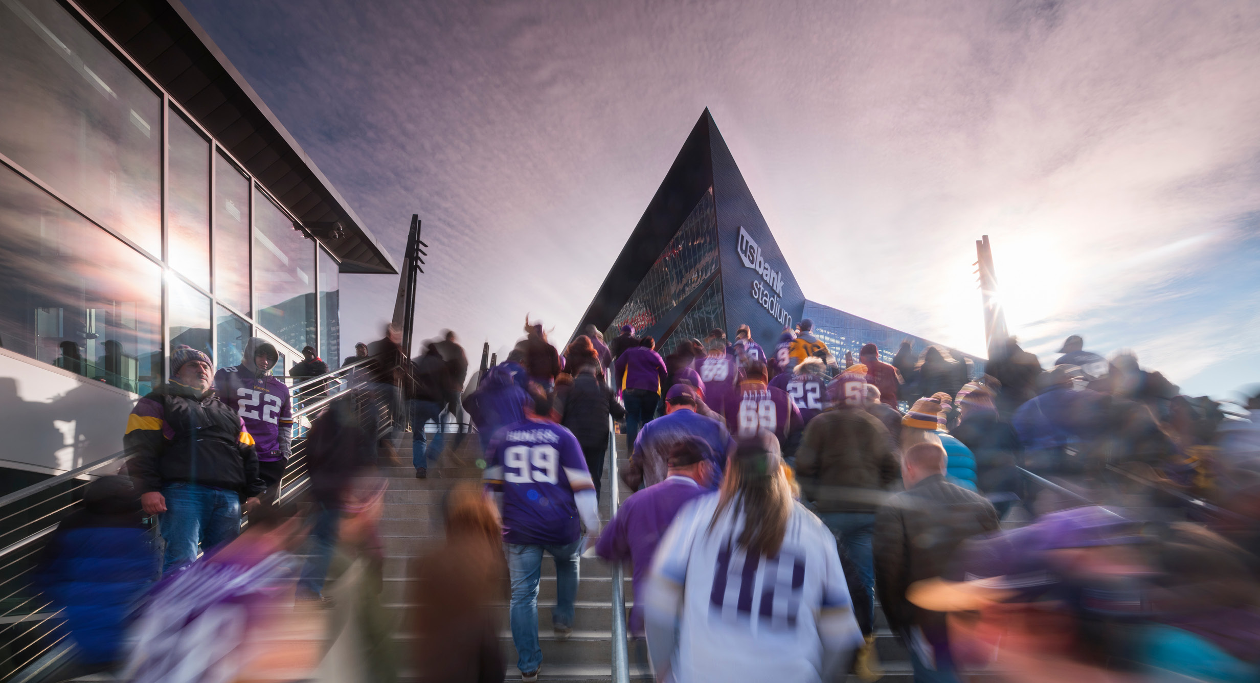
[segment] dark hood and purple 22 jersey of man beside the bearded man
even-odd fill
[[[251,336],[244,345],[241,364],[219,368],[214,373],[214,389],[219,399],[241,416],[253,437],[258,460],[275,462],[291,454],[294,408],[289,387],[270,374],[262,374],[253,364],[253,357],[262,344],[271,343]]]

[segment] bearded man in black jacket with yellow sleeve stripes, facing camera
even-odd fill
[[[160,515],[169,573],[241,533],[267,485],[244,420],[214,396],[210,357],[179,345],[170,382],[136,402],[122,446],[145,514]]]

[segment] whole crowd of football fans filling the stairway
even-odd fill
[[[275,643],[231,663],[199,655],[222,679],[318,662],[277,633],[338,609],[324,587],[336,554],[349,553],[335,573],[362,577],[352,586],[379,583],[382,421],[410,425],[425,479],[462,410],[484,474],[447,491],[444,544],[411,568],[425,680],[504,678],[503,599],[514,665],[537,680],[543,557],[563,640],[587,552],[633,566],[629,634],[658,680],[876,680],[877,604],[919,682],[1260,678],[1260,396],[1241,411],[1181,396],[1079,336],[1050,368],[1014,339],[980,368],[910,342],[888,363],[876,344],[837,358],[808,319],[769,353],[747,325],[672,339],[664,357],[617,331],[588,325],[558,349],[527,321],[469,382],[454,333],[408,358],[391,326],[343,363],[359,391],[325,382],[296,398],[263,339],[218,372],[175,349],[171,381],[127,422],[125,476],[93,481],[48,542],[40,586],[67,610],[79,664],[166,680],[194,665],[198,634],[222,653]],[[328,369],[307,352],[295,378]],[[294,403],[316,399],[301,515],[278,485]],[[617,422],[634,493],[602,525]],[[144,518],[160,520],[160,551]],[[300,609],[276,610],[281,595]],[[389,646],[383,620],[346,619]],[[125,645],[129,623],[140,635]],[[388,653],[364,662],[373,679],[397,674]]]

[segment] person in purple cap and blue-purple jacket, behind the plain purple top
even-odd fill
[[[630,465],[621,473],[621,479],[630,490],[664,481],[669,476],[669,454],[679,442],[693,437],[708,444],[713,470],[718,474],[724,471],[726,456],[735,442],[726,430],[726,422],[696,412],[701,403],[696,391],[687,384],[674,384],[669,389],[665,396],[665,416],[653,420],[639,432],[630,454]]]

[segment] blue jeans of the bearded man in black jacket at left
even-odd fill
[[[161,488],[161,495],[166,499],[166,512],[159,517],[166,542],[163,573],[197,560],[198,548],[210,551],[241,533],[241,496],[236,491],[171,481]]]

